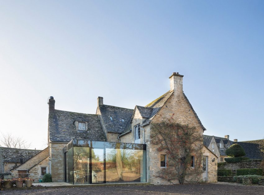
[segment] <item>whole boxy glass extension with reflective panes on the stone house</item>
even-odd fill
[[[146,145],[74,139],[63,149],[71,184],[146,182]]]

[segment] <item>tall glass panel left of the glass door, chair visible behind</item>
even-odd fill
[[[73,147],[74,184],[89,183],[89,147]]]

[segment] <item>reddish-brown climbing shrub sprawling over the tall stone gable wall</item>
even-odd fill
[[[178,180],[180,184],[202,180],[203,135],[195,127],[179,124],[174,119],[154,123],[151,143],[167,154],[166,168],[156,176],[168,181]]]

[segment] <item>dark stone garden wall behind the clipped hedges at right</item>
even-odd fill
[[[218,169],[263,169],[264,160],[245,160],[238,163],[219,163]]]

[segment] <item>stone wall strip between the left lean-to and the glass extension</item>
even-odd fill
[[[64,181],[63,148],[67,143],[50,143],[52,181]]]

